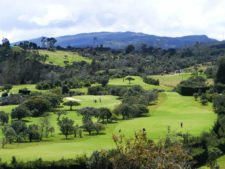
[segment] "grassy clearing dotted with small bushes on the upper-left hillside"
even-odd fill
[[[85,61],[91,63],[91,59],[80,56],[77,53],[67,52],[67,51],[48,51],[48,50],[39,50],[41,55],[48,55],[47,63],[54,64],[58,66],[65,66],[65,62],[71,65],[73,62]]]

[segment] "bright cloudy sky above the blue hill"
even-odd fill
[[[133,31],[223,40],[224,8],[225,0],[0,0],[0,38]]]

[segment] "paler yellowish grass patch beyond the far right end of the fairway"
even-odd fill
[[[181,81],[191,77],[191,73],[177,73],[168,75],[152,75],[154,79],[158,79],[160,85],[168,87],[176,87]]]

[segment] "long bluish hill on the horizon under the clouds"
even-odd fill
[[[155,35],[148,35],[144,33],[135,32],[97,32],[97,33],[82,33],[77,35],[68,35],[56,37],[56,45],[67,47],[96,47],[103,45],[114,49],[125,48],[129,44],[141,46],[147,44],[153,47],[161,48],[180,48],[190,46],[196,42],[200,43],[214,43],[218,42],[206,35],[192,35],[183,37],[160,37]],[[37,43],[41,46],[41,37],[31,39],[29,41]]]

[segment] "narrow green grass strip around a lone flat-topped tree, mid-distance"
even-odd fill
[[[134,78],[135,80],[132,80],[129,84],[129,81],[125,78],[114,78],[110,79],[108,85],[109,86],[133,86],[133,85],[140,85],[145,90],[152,90],[152,89],[163,89],[163,90],[171,90],[171,87],[167,86],[156,86],[156,85],[150,85],[143,82],[143,79],[140,76],[129,76]]]

